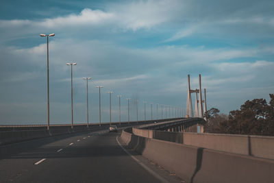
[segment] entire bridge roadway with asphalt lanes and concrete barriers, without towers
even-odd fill
[[[273,137],[204,134],[204,122],[1,126],[0,182],[273,182]]]

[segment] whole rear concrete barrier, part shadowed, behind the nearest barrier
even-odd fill
[[[142,130],[138,128],[133,128],[132,132],[137,136],[155,138],[162,141],[274,160],[274,136],[197,134]]]

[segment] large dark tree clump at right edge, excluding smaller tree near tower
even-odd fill
[[[274,95],[269,104],[253,99],[229,112],[228,120],[220,123],[220,131],[229,134],[274,135]]]

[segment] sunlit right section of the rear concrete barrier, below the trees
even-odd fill
[[[274,160],[274,136],[184,133],[185,145]]]

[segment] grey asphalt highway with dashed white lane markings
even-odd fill
[[[0,182],[184,182],[127,154],[119,134],[84,132],[2,146]]]

